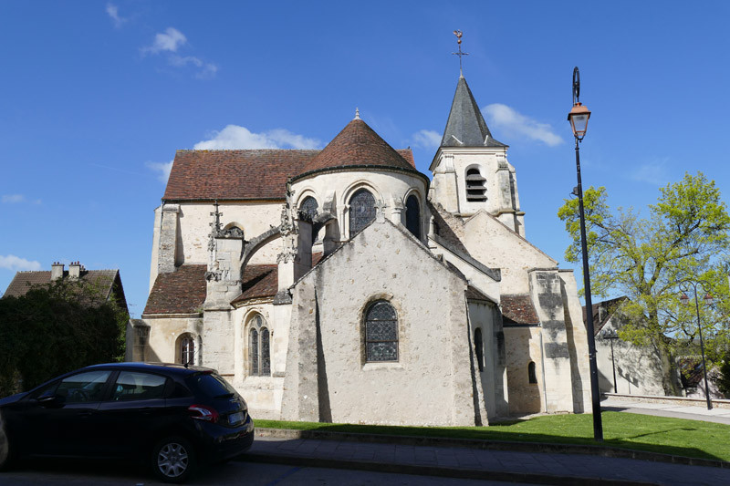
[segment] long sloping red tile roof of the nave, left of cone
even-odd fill
[[[178,150],[166,201],[284,200],[287,179],[319,150]]]

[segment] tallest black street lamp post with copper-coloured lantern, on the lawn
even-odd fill
[[[576,171],[578,172],[578,202],[580,215],[580,249],[583,253],[583,285],[586,290],[586,315],[588,327],[588,357],[590,367],[590,398],[593,406],[593,439],[603,441],[603,424],[600,419],[599,370],[596,365],[596,337],[593,335],[593,303],[590,300],[590,275],[588,264],[588,245],[586,243],[586,216],[583,211],[583,184],[580,181],[580,149],[579,142],[586,136],[590,111],[580,101],[580,73],[578,67],[573,69],[573,108],[568,113],[568,121],[576,139]]]

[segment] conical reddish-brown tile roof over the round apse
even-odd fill
[[[304,166],[300,177],[318,171],[347,168],[388,168],[421,174],[412,165],[411,150],[406,150],[406,154],[410,160],[382,140],[367,123],[353,119]]]

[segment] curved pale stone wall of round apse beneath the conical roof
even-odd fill
[[[388,219],[402,224],[405,224],[405,200],[412,193],[416,194],[421,205],[421,239],[425,238],[428,233],[426,182],[421,177],[397,171],[336,171],[315,174],[292,184],[297,207],[304,198],[312,196],[318,202],[319,212],[325,208],[334,209],[340,241],[349,238],[349,198],[359,189],[372,192],[376,202],[385,203]]]

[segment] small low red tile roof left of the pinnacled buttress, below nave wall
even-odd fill
[[[201,314],[207,269],[207,265],[183,265],[169,274],[158,274],[142,315]]]

